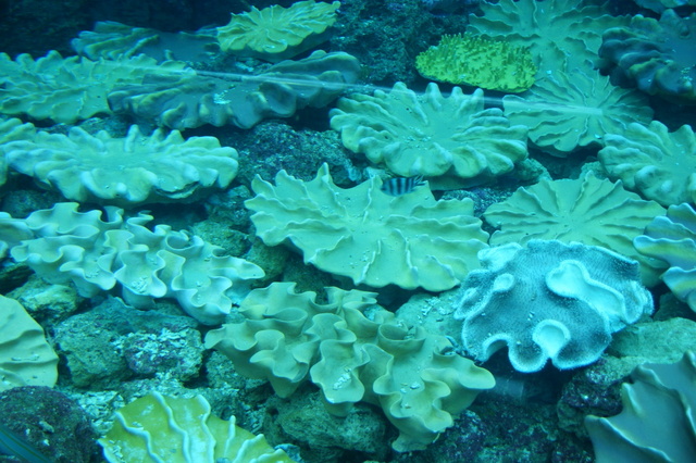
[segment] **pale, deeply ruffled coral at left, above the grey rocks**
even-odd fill
[[[153,298],[173,297],[203,324],[222,322],[232,304],[249,290],[250,280],[263,276],[257,265],[167,225],[145,224],[139,213],[124,220],[123,210],[77,212],[77,203],[63,202],[32,213],[26,225],[35,238],[11,249],[49,283],[72,281],[83,296],[95,296],[121,285],[123,298],[139,308]]]

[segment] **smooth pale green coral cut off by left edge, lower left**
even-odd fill
[[[44,329],[14,299],[0,296],[0,391],[17,386],[53,387],[58,355]]]

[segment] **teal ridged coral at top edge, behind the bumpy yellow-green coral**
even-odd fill
[[[569,66],[597,61],[601,32],[627,23],[625,17],[610,16],[601,8],[577,0],[500,0],[482,1],[482,16],[469,15],[468,32],[501,36],[511,45],[529,47],[539,75],[558,72],[560,57]]]

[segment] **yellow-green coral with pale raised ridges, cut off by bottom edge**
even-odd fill
[[[202,397],[164,397],[159,392],[119,409],[113,428],[101,439],[110,463],[290,463],[262,434],[254,436],[213,415]]]

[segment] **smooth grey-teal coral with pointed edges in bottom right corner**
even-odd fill
[[[620,414],[585,420],[597,462],[692,461],[696,454],[694,352],[674,364],[643,364],[631,377],[633,384],[621,387]]]

